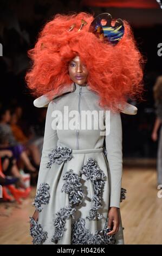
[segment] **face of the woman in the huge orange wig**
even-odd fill
[[[81,62],[79,56],[76,56],[72,59],[68,66],[69,76],[74,83],[79,84],[80,86],[87,82],[88,70],[86,65]]]

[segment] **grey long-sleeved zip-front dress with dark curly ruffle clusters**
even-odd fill
[[[34,244],[44,245],[124,244],[120,216],[120,113],[106,115],[99,106],[98,94],[87,85],[74,86],[74,92],[57,97],[48,105],[34,200],[39,217],[38,221],[30,217],[30,235]],[[79,112],[75,129],[65,126],[73,117],[66,119],[64,106],[69,112]],[[93,121],[95,124],[103,121],[105,130],[102,126],[99,129],[81,127],[80,114],[87,110],[96,113],[104,110],[103,115],[99,115],[98,120],[94,117]],[[63,118],[59,113],[63,113]],[[58,118],[54,121],[56,114]],[[103,149],[104,141],[106,150]],[[110,206],[119,208],[120,228],[114,236],[107,235]]]

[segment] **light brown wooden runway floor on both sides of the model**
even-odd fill
[[[122,187],[127,189],[127,198],[121,203],[125,244],[162,244],[162,198],[157,196],[155,169],[125,168]],[[29,216],[34,212],[34,196],[35,188],[22,205],[0,204],[1,245],[31,244]]]

